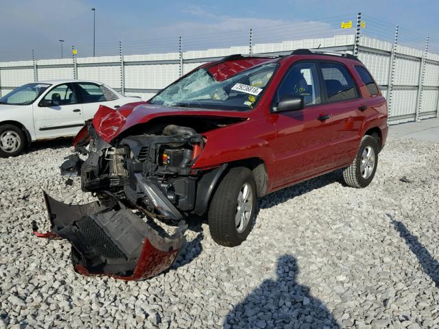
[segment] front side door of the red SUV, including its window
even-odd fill
[[[322,105],[318,65],[296,62],[279,84],[273,102],[288,95],[301,95],[305,108],[272,113],[276,125],[273,143],[276,187],[284,186],[331,168],[329,146],[333,140],[331,115]]]

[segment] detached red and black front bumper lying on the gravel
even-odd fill
[[[68,205],[44,193],[51,232],[34,234],[49,239],[67,239],[73,268],[88,275],[106,274],[122,280],[151,278],[176,260],[185,243],[187,225],[180,222],[176,232],[163,237],[135,215],[117,204],[105,208],[98,202]]]

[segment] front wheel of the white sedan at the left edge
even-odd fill
[[[25,133],[16,125],[0,126],[0,158],[19,156],[23,153],[26,143]]]

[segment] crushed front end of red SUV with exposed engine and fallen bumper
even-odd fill
[[[45,193],[51,231],[42,234],[35,226],[34,234],[67,239],[75,271],[123,280],[156,276],[174,263],[184,245],[187,215],[204,211],[197,194],[206,194],[219,169],[204,176],[191,169],[205,143],[203,136],[174,124],[154,129],[108,143],[89,122],[61,171],[79,175],[82,191],[99,201],[69,205]],[[154,219],[178,223],[178,228],[163,236],[150,225]]]

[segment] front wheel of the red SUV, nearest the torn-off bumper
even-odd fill
[[[230,169],[219,182],[209,207],[208,222],[213,241],[226,247],[235,247],[245,241],[252,228],[256,199],[252,171],[246,167]],[[241,208],[244,204],[246,208]],[[238,211],[241,216],[236,223]]]

